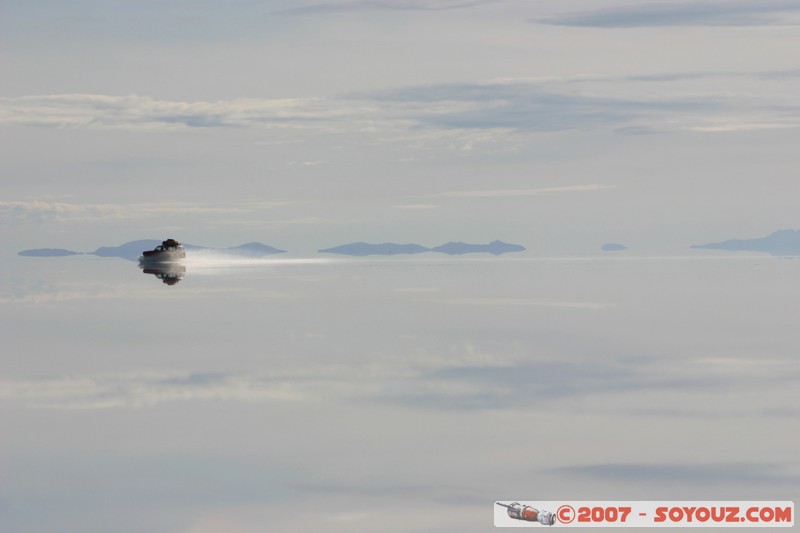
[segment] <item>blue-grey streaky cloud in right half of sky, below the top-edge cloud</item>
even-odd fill
[[[675,132],[738,124],[800,124],[800,109],[786,101],[781,109],[767,106],[751,94],[676,92],[670,82],[702,79],[710,74],[642,77],[650,82],[648,96],[626,96],[616,86],[580,87],[579,83],[612,81],[578,76],[564,79],[505,79],[485,83],[439,84],[353,95],[380,106],[395,117],[427,128],[485,131],[496,135],[614,130],[631,133]],[[742,74],[759,80],[759,74]],[[631,77],[628,77],[631,78]],[[617,78],[613,81],[631,81]],[[665,85],[660,86],[658,82]],[[714,131],[714,130],[709,130]],[[516,144],[512,142],[510,144]]]

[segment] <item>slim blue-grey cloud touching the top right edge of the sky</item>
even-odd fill
[[[800,12],[800,4],[789,0],[658,2],[576,11],[532,22],[588,28],[760,26],[781,24],[783,15],[794,12]]]

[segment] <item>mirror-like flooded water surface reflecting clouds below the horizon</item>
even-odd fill
[[[800,492],[796,260],[4,265],[3,531],[478,532],[498,499]]]

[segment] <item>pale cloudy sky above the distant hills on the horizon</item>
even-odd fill
[[[0,10],[12,249],[658,254],[797,226],[794,2]]]

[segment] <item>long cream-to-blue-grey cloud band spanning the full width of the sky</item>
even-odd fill
[[[722,75],[750,76],[754,82],[767,79],[759,73],[628,77],[627,81],[652,84],[647,97],[624,96],[613,87],[598,84],[591,90],[576,85],[611,81],[592,76],[438,84],[336,98],[184,102],[136,95],[22,96],[0,98],[0,124],[127,130],[270,129],[278,132],[273,142],[293,137],[290,133],[296,131],[361,135],[364,142],[374,144],[402,144],[420,151],[435,146],[461,152],[491,147],[513,151],[524,144],[524,136],[551,132],[714,132],[720,123],[754,124],[757,129],[800,124],[800,109],[794,101],[769,106],[749,93],[678,93],[671,86],[658,85]],[[794,79],[789,71],[776,75]]]

